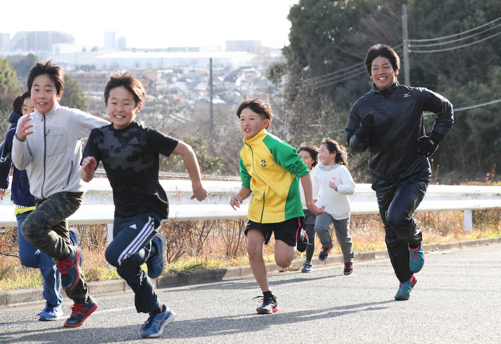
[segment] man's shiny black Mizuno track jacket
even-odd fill
[[[371,136],[361,139],[355,132],[360,119],[371,111],[374,112]],[[369,148],[374,190],[431,173],[428,159],[417,152],[417,138],[426,135],[423,111],[436,114],[432,132],[444,138],[454,122],[452,104],[427,88],[405,86],[397,81],[380,91],[373,85],[353,105],[345,128],[346,139],[353,151]]]

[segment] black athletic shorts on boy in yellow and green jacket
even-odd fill
[[[259,223],[248,220],[245,227],[245,235],[249,229],[260,229],[265,237],[265,245],[270,241],[272,232],[275,232],[275,240],[282,240],[289,246],[296,246],[298,232],[303,226],[304,217],[293,217],[283,222]]]

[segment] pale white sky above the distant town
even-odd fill
[[[225,40],[289,43],[290,6],[299,0],[68,0],[2,1],[0,32],[56,30],[90,49],[104,31],[127,38],[127,47],[209,46]],[[16,14],[17,13],[17,14]]]

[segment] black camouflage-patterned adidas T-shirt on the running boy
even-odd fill
[[[103,161],[113,188],[115,215],[154,212],[167,218],[169,202],[158,181],[158,154],[169,156],[177,143],[177,139],[135,121],[124,129],[109,124],[92,129],[83,157]]]

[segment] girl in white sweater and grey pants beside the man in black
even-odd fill
[[[334,223],[336,237],[344,257],[344,274],[353,272],[353,243],[350,236],[349,194],[355,193],[355,182],[346,168],[348,159],[345,148],[332,138],[324,138],[319,149],[320,163],[315,167],[314,185],[320,186],[317,206],[325,205],[325,213],[317,216],[315,232],[322,250],[318,258],[327,259],[333,242],[329,226]],[[314,186],[314,189],[317,186]]]

